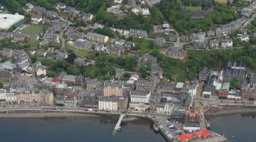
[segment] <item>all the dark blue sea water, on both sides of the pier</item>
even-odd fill
[[[256,141],[256,114],[209,118],[213,131],[232,142]],[[118,118],[0,119],[1,141],[165,142],[149,121],[122,121],[122,131],[112,136]]]

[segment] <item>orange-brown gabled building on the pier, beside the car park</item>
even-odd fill
[[[188,123],[200,123],[201,112],[198,109],[186,109],[185,122]]]

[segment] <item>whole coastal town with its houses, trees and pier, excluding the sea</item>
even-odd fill
[[[189,18],[208,18],[198,31],[156,9],[166,0],[107,1],[97,14],[64,1],[23,1],[18,10],[0,1],[1,114],[116,115],[113,136],[123,118],[139,117],[166,141],[228,141],[206,116],[256,107],[256,1],[206,1],[200,11],[178,5]],[[217,11],[233,18],[209,19]],[[132,16],[144,23],[127,26]]]

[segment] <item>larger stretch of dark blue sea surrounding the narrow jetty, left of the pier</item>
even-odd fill
[[[122,131],[112,136],[115,122],[103,118],[0,119],[0,141],[165,142],[142,119],[124,121]]]

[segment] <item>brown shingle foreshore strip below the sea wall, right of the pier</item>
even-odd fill
[[[255,113],[255,107],[214,107],[206,112],[206,117],[226,116],[233,114]]]

